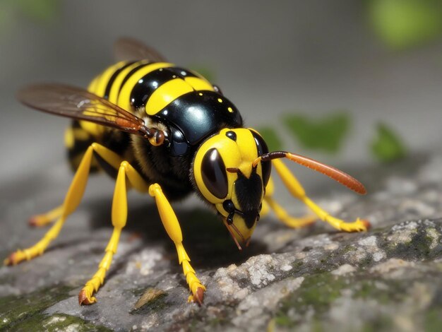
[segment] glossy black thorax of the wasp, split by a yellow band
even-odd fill
[[[191,71],[167,67],[151,71],[133,87],[131,105],[143,109],[157,88],[177,78],[196,77]],[[169,129],[170,155],[186,155],[208,136],[223,128],[242,126],[241,115],[226,97],[210,90],[193,90],[180,95],[152,116]]]

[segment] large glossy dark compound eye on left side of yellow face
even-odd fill
[[[206,188],[213,196],[224,198],[227,196],[227,173],[224,161],[216,148],[205,153],[201,162],[201,175]]]

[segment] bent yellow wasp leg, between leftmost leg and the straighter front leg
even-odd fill
[[[99,154],[102,156],[102,153]],[[79,304],[92,304],[97,302],[97,299],[93,297],[92,294],[97,292],[98,288],[104,283],[104,277],[109,270],[114,254],[117,252],[121,230],[126,225],[127,220],[126,177],[128,177],[129,183],[138,191],[148,191],[148,184],[145,183],[140,174],[136,172],[129,162],[121,162],[112,201],[112,225],[114,226],[114,231],[104,250],[105,254],[98,266],[97,272],[85,283],[85,286],[78,294]]]

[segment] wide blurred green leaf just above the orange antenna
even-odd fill
[[[290,114],[283,121],[303,148],[328,153],[338,153],[350,127],[350,115],[343,111],[333,112],[322,119]]]

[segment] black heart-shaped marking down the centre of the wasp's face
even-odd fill
[[[255,171],[251,172],[249,179],[242,173],[238,173],[238,179],[234,183],[235,194],[239,203],[239,209],[246,226],[253,227],[258,219],[261,197],[263,195],[263,182]]]

